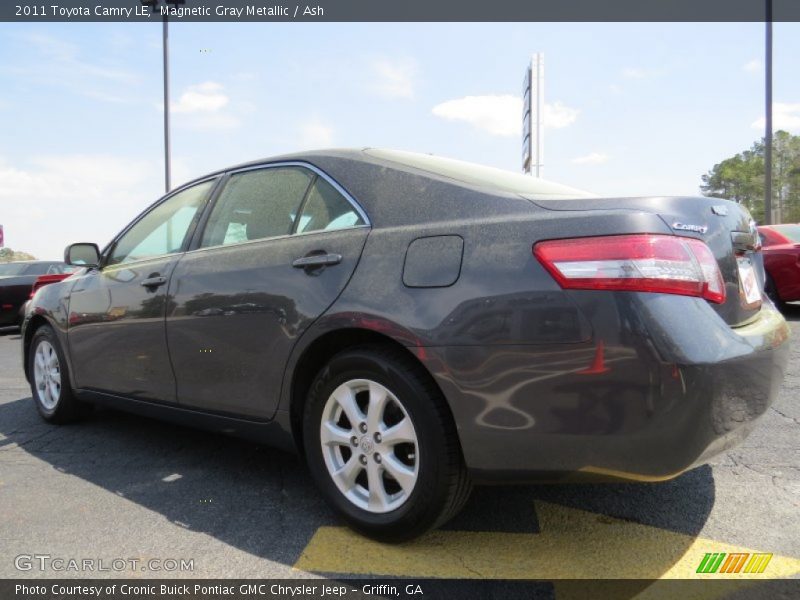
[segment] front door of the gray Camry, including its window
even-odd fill
[[[175,401],[164,331],[169,278],[213,186],[205,181],[157,204],[72,288],[67,339],[76,387]]]

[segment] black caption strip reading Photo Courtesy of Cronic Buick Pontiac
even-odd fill
[[[800,580],[42,579],[0,580],[3,600],[539,600],[800,597]]]

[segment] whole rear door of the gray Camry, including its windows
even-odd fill
[[[178,402],[271,418],[292,347],[344,289],[368,232],[358,205],[312,167],[230,174],[170,283]]]

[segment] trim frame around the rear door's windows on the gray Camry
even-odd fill
[[[295,219],[295,223],[294,223],[294,225],[292,225],[291,233],[287,233],[287,234],[283,234],[283,235],[275,235],[275,236],[272,236],[272,237],[259,238],[257,240],[243,240],[241,242],[235,242],[235,243],[232,243],[232,244],[217,244],[215,246],[201,246],[200,245],[200,243],[201,243],[201,241],[203,239],[203,235],[205,233],[205,229],[208,226],[208,221],[209,221],[209,219],[211,217],[211,213],[214,211],[214,208],[216,207],[217,202],[219,201],[219,197],[222,195],[222,192],[225,190],[225,187],[227,186],[228,181],[230,180],[231,176],[237,175],[239,173],[246,173],[248,171],[260,171],[260,170],[263,170],[263,169],[276,169],[276,168],[282,168],[282,167],[283,168],[285,168],[285,167],[300,167],[300,168],[307,169],[307,170],[311,171],[311,173],[313,175],[312,178],[311,178],[311,182],[309,183],[308,188],[306,189],[306,192],[303,195],[303,199],[300,202],[300,207],[298,208],[298,212],[297,212],[297,216],[298,217],[300,216],[300,214],[302,212],[302,208],[305,206],[306,200],[308,199],[308,195],[309,195],[309,193],[311,191],[312,186],[314,185],[314,182],[317,180],[317,178],[321,177],[322,179],[327,181],[337,192],[339,192],[345,200],[347,200],[347,202],[350,204],[350,206],[353,207],[353,209],[356,211],[356,213],[358,213],[358,215],[361,217],[361,219],[364,221],[364,223],[361,224],[361,225],[352,225],[350,227],[341,227],[339,229],[328,229],[328,230],[326,230],[326,229],[318,229],[316,231],[304,231],[304,232],[301,232],[301,233],[296,233],[297,219]],[[191,240],[190,240],[190,242],[189,242],[189,244],[188,244],[188,246],[187,246],[187,248],[186,248],[186,250],[184,252],[189,253],[189,252],[196,252],[196,251],[199,251],[199,250],[212,250],[212,249],[216,249],[216,248],[234,248],[234,247],[242,246],[244,244],[257,244],[259,242],[266,242],[266,241],[270,241],[270,240],[280,240],[280,239],[284,239],[284,238],[292,238],[292,237],[305,236],[305,235],[315,235],[315,234],[320,234],[320,233],[337,233],[339,231],[349,231],[351,229],[364,229],[364,228],[371,228],[371,227],[372,227],[372,222],[369,220],[369,217],[367,216],[367,213],[364,211],[363,207],[358,203],[358,201],[355,198],[353,198],[353,196],[350,194],[350,192],[348,192],[346,189],[344,189],[339,184],[338,181],[336,181],[333,177],[328,175],[325,171],[323,171],[319,167],[317,167],[315,165],[312,165],[311,163],[308,163],[308,162],[305,162],[305,161],[301,161],[301,160],[290,160],[290,161],[260,163],[260,164],[257,164],[257,165],[248,165],[246,167],[241,167],[241,168],[238,168],[238,169],[231,169],[230,171],[226,171],[223,174],[223,176],[220,177],[220,182],[217,184],[217,186],[214,188],[212,194],[210,195],[209,200],[206,203],[205,209],[203,211],[203,214],[201,215],[200,220],[199,220],[199,222],[197,224],[197,227],[195,228],[194,233],[192,234],[192,238],[191,238]]]

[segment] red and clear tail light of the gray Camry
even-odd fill
[[[656,234],[539,242],[533,254],[562,288],[697,296],[721,304],[725,281],[700,240]]]

